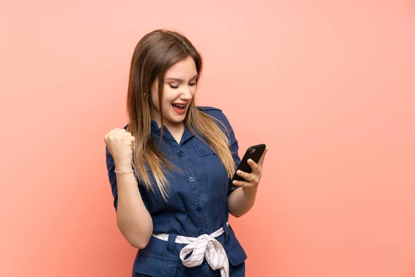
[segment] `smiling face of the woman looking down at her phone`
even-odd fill
[[[167,127],[176,127],[185,120],[187,109],[196,94],[196,64],[187,56],[167,69],[163,83],[163,123]],[[158,80],[151,87],[151,119],[160,127],[160,107],[158,105]]]

